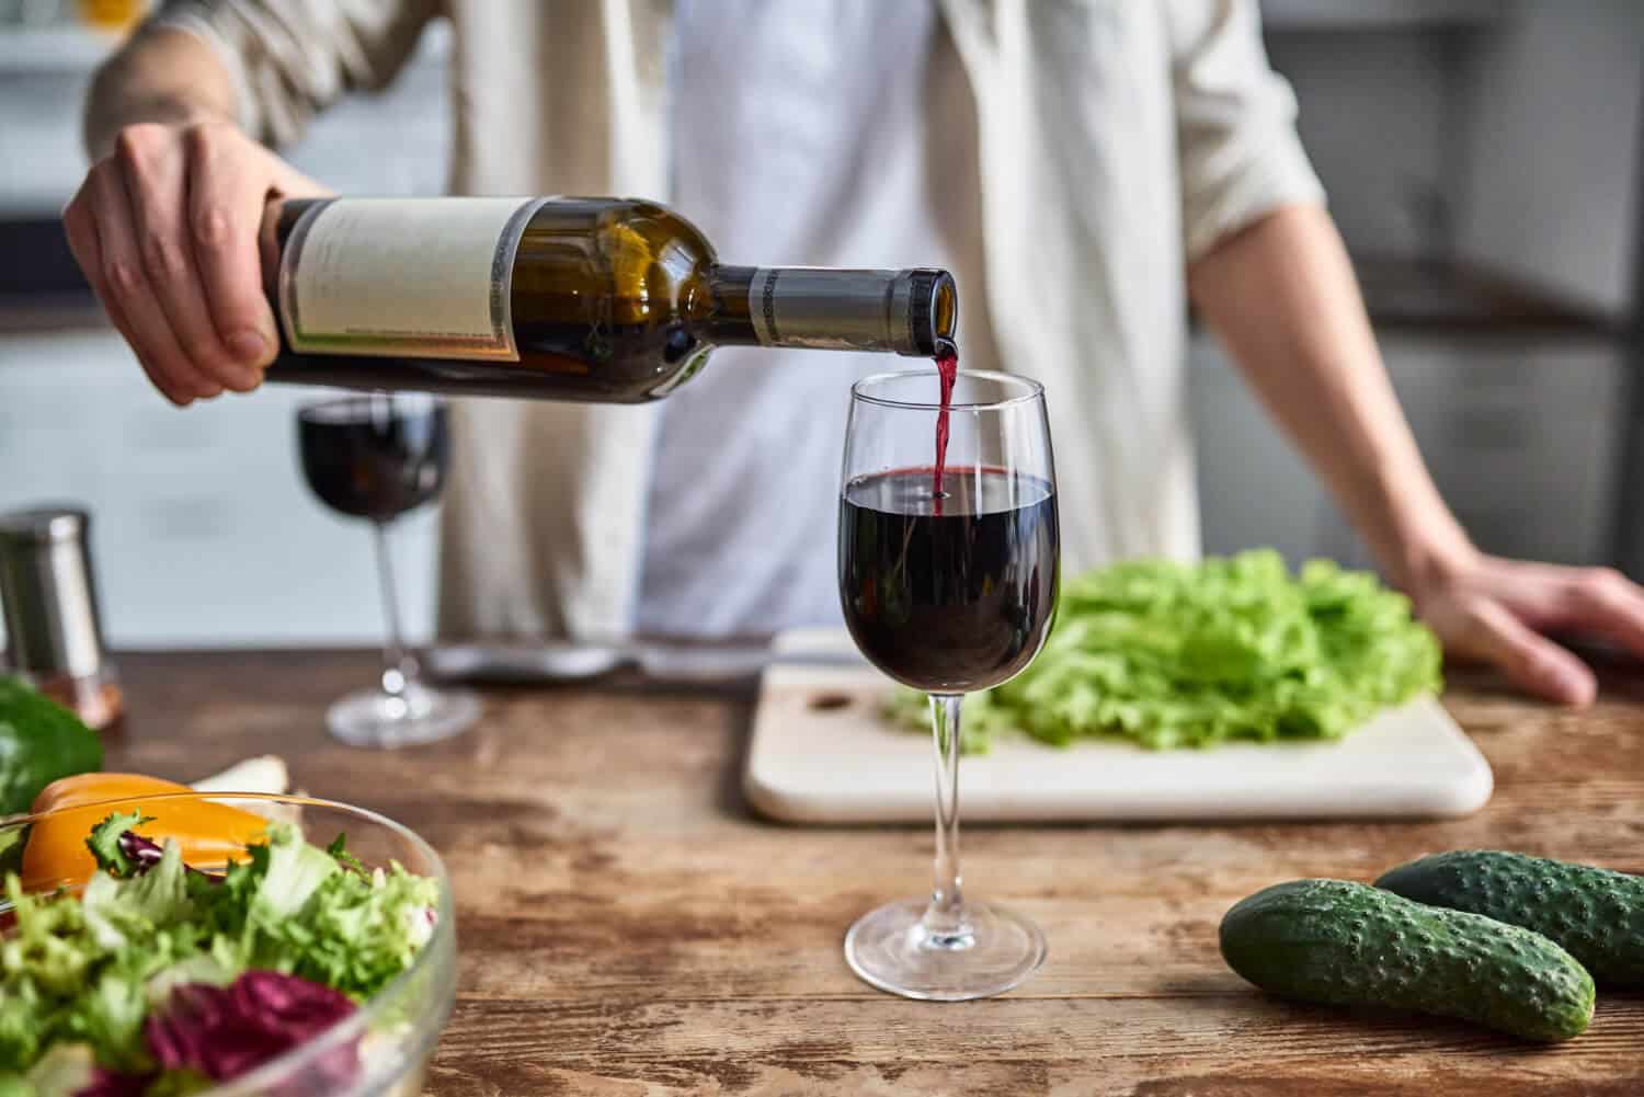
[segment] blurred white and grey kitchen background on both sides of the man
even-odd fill
[[[296,464],[302,391],[173,410],[62,245],[81,97],[115,39],[89,21],[123,7],[0,0],[0,510],[92,510],[113,645],[375,643],[367,528],[309,497]],[[1644,3],[1263,10],[1388,367],[1475,539],[1644,579]],[[439,194],[446,49],[429,33],[390,94],[330,112],[291,160],[344,192]],[[1192,380],[1205,549],[1365,564],[1205,332]],[[434,531],[418,513],[395,535],[419,635]]]

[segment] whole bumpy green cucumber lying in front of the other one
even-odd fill
[[[1568,1039],[1593,1018],[1593,977],[1547,937],[1346,880],[1240,901],[1221,919],[1221,956],[1286,998],[1457,1016],[1524,1039]]]

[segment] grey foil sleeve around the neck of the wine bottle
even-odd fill
[[[748,283],[753,332],[766,347],[898,349],[898,271],[886,270],[760,266]]]

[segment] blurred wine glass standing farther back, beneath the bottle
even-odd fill
[[[309,403],[298,410],[298,447],[302,474],[321,502],[372,521],[388,618],[380,684],[335,701],[326,711],[326,727],[353,747],[431,743],[465,730],[478,717],[478,699],[423,684],[416,655],[401,635],[388,558],[388,523],[431,502],[444,485],[450,452],[444,401],[372,393]]]

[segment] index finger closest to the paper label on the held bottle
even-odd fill
[[[261,370],[279,347],[256,252],[268,164],[248,156],[247,141],[227,127],[196,125],[184,141],[189,238],[212,322],[240,365]]]

